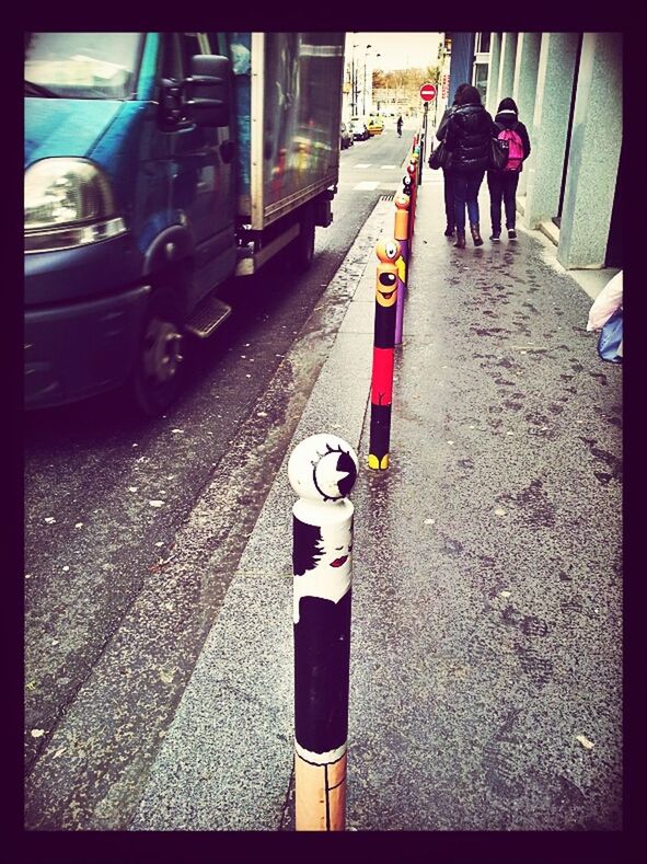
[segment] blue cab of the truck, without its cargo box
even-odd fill
[[[175,395],[184,326],[235,268],[230,61],[217,34],[32,33],[25,404]]]

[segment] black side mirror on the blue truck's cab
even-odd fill
[[[231,61],[228,57],[196,54],[190,77],[184,80],[185,110],[198,126],[227,126],[230,113]]]

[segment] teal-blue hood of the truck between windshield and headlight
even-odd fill
[[[25,168],[48,157],[86,155],[123,104],[116,100],[25,99]]]

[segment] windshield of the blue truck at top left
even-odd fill
[[[141,33],[28,33],[25,95],[131,99],[141,41]]]

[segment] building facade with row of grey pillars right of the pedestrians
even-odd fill
[[[623,266],[622,58],[621,33],[476,34],[472,83],[493,116],[511,96],[530,135],[522,223],[551,238],[567,269]]]

